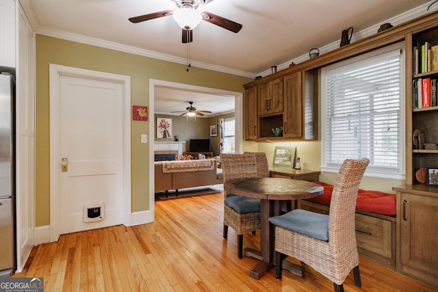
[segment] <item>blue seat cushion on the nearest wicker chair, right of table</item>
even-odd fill
[[[329,215],[296,209],[284,215],[270,217],[269,222],[296,233],[329,241]]]

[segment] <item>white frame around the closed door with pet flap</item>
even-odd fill
[[[60,237],[60,77],[79,77],[123,84],[123,217],[131,225],[131,77],[49,65],[50,72],[50,235],[49,242]]]

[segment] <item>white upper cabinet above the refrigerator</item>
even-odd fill
[[[0,0],[0,66],[15,68],[15,1]]]

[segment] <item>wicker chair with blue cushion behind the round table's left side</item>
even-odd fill
[[[224,183],[244,178],[268,177],[268,159],[263,152],[244,154],[220,154]],[[228,227],[237,233],[237,254],[243,256],[243,235],[260,229],[260,200],[224,194],[224,231],[228,237]]]

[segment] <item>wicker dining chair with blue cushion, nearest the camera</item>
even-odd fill
[[[270,217],[275,226],[276,278],[281,279],[283,258],[292,256],[313,267],[344,291],[344,280],[353,270],[361,287],[355,234],[357,191],[369,159],[346,159],[336,178],[329,215],[296,209]]]

